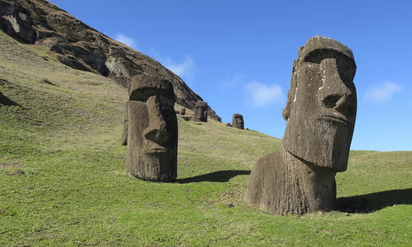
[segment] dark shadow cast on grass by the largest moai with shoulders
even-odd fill
[[[337,198],[335,209],[348,213],[370,213],[399,204],[412,205],[412,188]]]

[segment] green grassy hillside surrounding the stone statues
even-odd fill
[[[0,47],[0,246],[412,244],[412,152],[352,151],[345,207],[272,216],[242,198],[279,139],[179,117],[178,181],[141,181],[124,172],[124,88],[1,32]]]

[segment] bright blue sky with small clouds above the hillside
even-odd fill
[[[230,122],[283,137],[298,47],[324,35],[353,51],[358,115],[351,149],[412,150],[412,2],[52,0],[155,58]]]

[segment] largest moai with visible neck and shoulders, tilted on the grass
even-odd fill
[[[352,51],[311,37],[293,64],[281,148],[258,160],[245,200],[272,214],[333,209],[336,172],[347,168],[356,117]]]

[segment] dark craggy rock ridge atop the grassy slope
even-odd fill
[[[48,47],[72,68],[95,72],[127,86],[143,73],[173,84],[176,102],[194,110],[202,98],[154,59],[112,40],[45,0],[0,0],[0,29],[19,42]],[[213,110],[209,114],[221,121]]]

